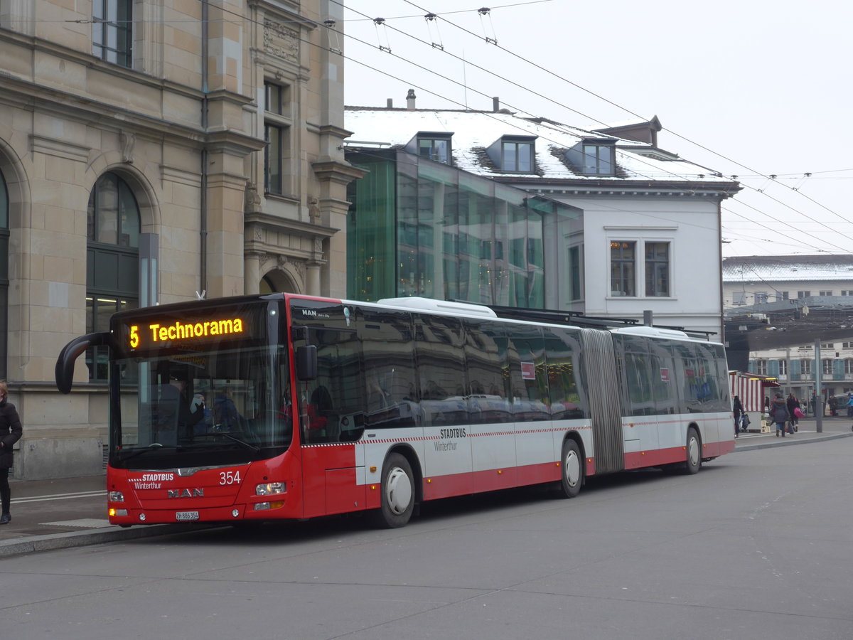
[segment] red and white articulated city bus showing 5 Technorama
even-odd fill
[[[498,317],[420,298],[291,294],[122,311],[109,346],[109,519],[305,519],[643,467],[695,473],[734,449],[722,346],[645,326]],[[90,351],[91,352],[91,351]]]

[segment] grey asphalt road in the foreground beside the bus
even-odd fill
[[[28,638],[853,637],[853,438],[742,451],[580,497],[445,501],[0,560]]]

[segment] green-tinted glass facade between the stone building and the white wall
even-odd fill
[[[400,150],[347,160],[368,171],[349,187],[348,297],[555,308],[546,263],[577,210]]]

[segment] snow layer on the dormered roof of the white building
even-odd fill
[[[665,182],[732,183],[728,177],[687,160],[671,156],[647,143],[561,125],[548,119],[528,119],[507,113],[405,108],[346,107],[345,128],[352,131],[350,147],[386,143],[403,147],[418,131],[452,133],[454,166],[481,176],[501,175],[499,169],[484,160],[484,150],[504,136],[535,136],[536,173],[508,173],[512,177],[564,180],[624,182],[627,179]],[[616,143],[617,175],[584,175],[572,169],[566,150],[583,139],[612,140]],[[371,141],[370,143],[366,141]],[[646,155],[658,152],[659,155]],[[665,158],[665,159],[664,159]],[[506,174],[504,174],[506,175]]]

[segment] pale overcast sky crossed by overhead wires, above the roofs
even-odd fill
[[[723,256],[853,251],[853,4],[345,5],[347,105],[384,107],[392,98],[404,107],[413,87],[419,108],[488,110],[499,96],[512,111],[590,129],[657,115],[660,147],[744,186],[722,205]],[[482,7],[490,11],[480,15]]]

